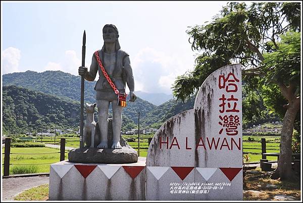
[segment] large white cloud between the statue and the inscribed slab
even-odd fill
[[[188,54],[168,55],[149,47],[141,49],[131,61],[135,91],[171,94],[176,77],[192,69],[193,63],[193,56]]]

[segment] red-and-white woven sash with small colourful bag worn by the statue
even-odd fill
[[[96,60],[98,62],[98,65],[104,75],[104,77],[106,78],[106,80],[108,81],[108,83],[110,84],[110,86],[113,88],[114,92],[116,95],[118,95],[118,105],[122,106],[122,107],[126,107],[126,97],[127,94],[124,93],[120,93],[119,90],[116,88],[115,84],[112,82],[111,78],[109,77],[109,75],[107,74],[104,66],[102,65],[101,59],[99,57],[99,53],[98,51],[94,52],[94,55],[96,57]]]

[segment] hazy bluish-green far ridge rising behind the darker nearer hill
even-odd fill
[[[85,81],[84,103],[94,103],[95,81]],[[45,71],[37,73],[26,71],[24,73],[13,73],[3,75],[3,86],[15,85],[30,90],[51,94],[62,99],[69,99],[80,102],[81,77],[74,76],[62,71]],[[127,101],[129,97],[127,98]],[[127,102],[127,107],[123,109],[124,120],[131,120],[138,123],[138,112],[143,119],[148,112],[157,106],[138,98],[135,102]],[[79,107],[80,108],[80,107]],[[110,109],[110,113],[112,110]]]

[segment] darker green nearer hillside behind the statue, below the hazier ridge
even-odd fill
[[[122,117],[122,130],[136,126],[127,115]],[[77,101],[17,86],[3,87],[3,130],[6,133],[49,129],[55,124],[60,129],[77,128],[79,123],[80,103]]]

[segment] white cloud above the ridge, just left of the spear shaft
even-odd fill
[[[43,71],[62,71],[78,76],[78,67],[81,60],[77,58],[76,51],[65,51],[65,57],[61,62],[48,62]]]

